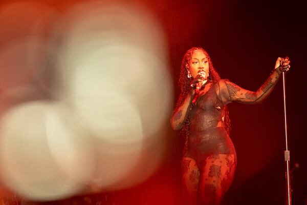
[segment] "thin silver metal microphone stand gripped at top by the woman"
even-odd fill
[[[286,204],[291,205],[291,184],[290,184],[290,151],[288,150],[288,130],[287,130],[287,113],[286,113],[286,80],[285,74],[282,72],[282,90],[283,90],[283,111],[284,111],[284,132],[286,136],[286,150],[284,151],[284,161],[286,164],[286,188],[287,199]]]

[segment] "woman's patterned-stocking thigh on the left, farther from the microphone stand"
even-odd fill
[[[196,204],[200,178],[196,161],[190,157],[183,157],[181,172],[184,198],[187,204],[194,205]]]

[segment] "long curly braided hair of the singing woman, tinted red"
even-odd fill
[[[216,70],[213,67],[212,61],[210,56],[208,55],[208,53],[201,47],[193,47],[191,49],[189,49],[183,56],[183,59],[181,61],[181,67],[180,67],[180,75],[179,75],[179,86],[181,88],[181,93],[179,95],[179,100],[178,103],[176,105],[176,109],[175,111],[177,111],[179,109],[179,107],[183,104],[184,99],[186,98],[186,96],[189,94],[190,92],[190,85],[191,85],[191,80],[190,78],[188,78],[188,72],[187,72],[187,68],[186,65],[190,64],[191,58],[192,58],[192,54],[194,53],[194,51],[196,50],[201,50],[204,52],[204,54],[207,57],[208,60],[208,64],[209,64],[209,80],[211,80],[213,83],[218,83],[218,81],[220,81],[221,77],[220,75],[216,72]],[[186,118],[185,120],[185,125],[182,129],[182,135],[188,137],[188,130],[189,130],[189,117]],[[228,108],[227,106],[225,106],[225,110],[224,110],[224,121],[223,121],[223,126],[225,127],[225,130],[227,132],[227,134],[230,134],[230,118],[229,118],[229,112],[228,112]],[[186,145],[185,145],[185,149],[187,148],[187,139],[186,139]]]

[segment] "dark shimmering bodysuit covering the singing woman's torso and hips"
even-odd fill
[[[218,96],[218,83],[208,83],[209,90],[200,95],[189,112],[189,135],[185,157],[193,158],[200,167],[207,156],[235,154],[233,143],[222,122],[225,105]],[[221,124],[220,124],[221,125]],[[223,125],[223,123],[222,123]]]

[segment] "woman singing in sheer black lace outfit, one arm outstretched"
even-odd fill
[[[272,92],[290,60],[278,58],[275,69],[256,91],[221,79],[208,53],[191,48],[182,60],[181,94],[171,117],[174,130],[186,133],[182,183],[187,204],[220,204],[236,168],[236,153],[229,137],[228,103],[261,103]]]

